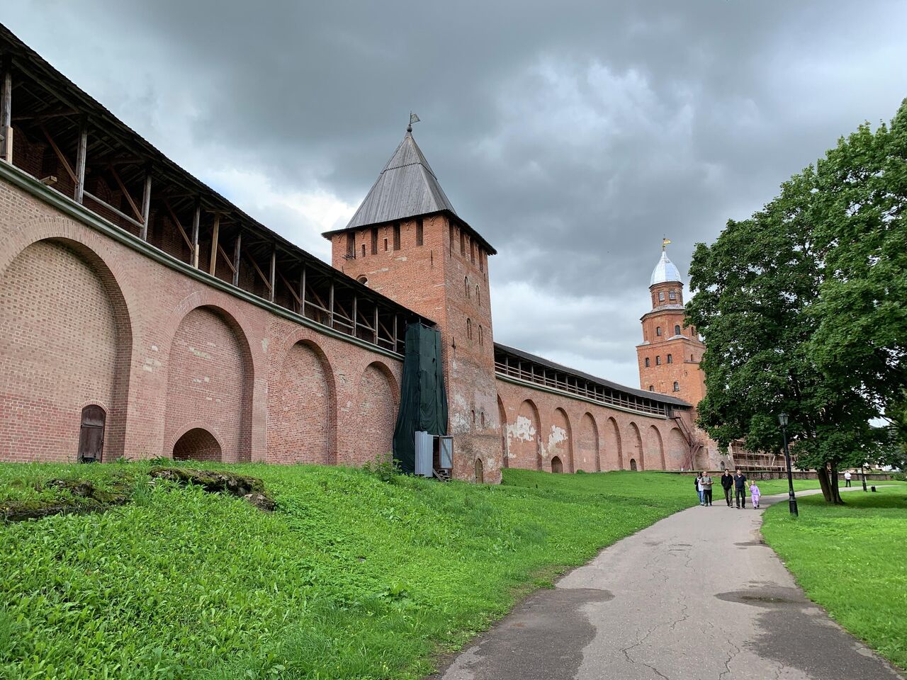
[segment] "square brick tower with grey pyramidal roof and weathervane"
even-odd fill
[[[325,237],[334,267],[437,323],[453,476],[499,481],[488,287],[488,256],[496,251],[457,216],[411,126],[349,224]]]

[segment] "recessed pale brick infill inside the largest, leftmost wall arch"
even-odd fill
[[[0,458],[76,460],[83,407],[112,422],[117,340],[93,267],[49,241],[15,256],[0,282]]]

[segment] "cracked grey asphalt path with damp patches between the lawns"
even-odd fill
[[[527,597],[434,677],[902,678],[806,599],[761,524],[748,499],[678,512]]]

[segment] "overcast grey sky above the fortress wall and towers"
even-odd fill
[[[907,3],[5,0],[0,21],[328,259],[405,131],[498,249],[494,339],[639,385],[662,236],[746,218],[907,96]]]

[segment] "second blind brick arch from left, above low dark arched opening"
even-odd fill
[[[165,350],[165,455],[192,420],[219,432],[224,461],[250,461],[255,367],[249,340],[226,309],[204,302],[193,294],[171,316],[177,320]]]

